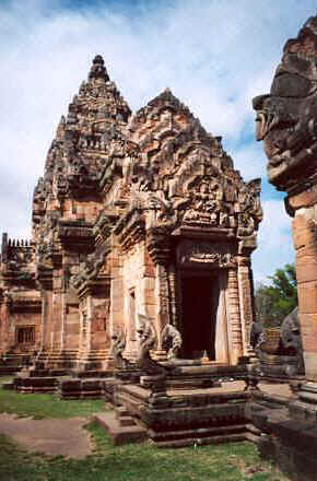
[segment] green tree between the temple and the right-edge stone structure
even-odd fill
[[[256,290],[257,320],[265,327],[278,327],[298,303],[295,266],[287,263],[269,279],[271,285],[260,283]]]

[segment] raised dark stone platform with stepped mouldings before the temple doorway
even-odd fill
[[[262,430],[254,414],[266,409],[286,412],[292,391],[285,384],[261,384],[259,390],[245,390],[245,382],[223,383],[221,387],[166,389],[153,398],[142,385],[116,387],[115,413],[97,414],[96,421],[110,434],[114,444],[150,438],[157,447],[183,447],[251,441],[259,443]],[[138,427],[136,427],[138,426]],[[142,436],[138,437],[139,430]]]

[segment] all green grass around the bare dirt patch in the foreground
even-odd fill
[[[59,401],[50,395],[0,389],[0,412],[34,418],[89,417],[104,401]],[[150,443],[113,446],[91,422],[93,453],[84,459],[31,454],[0,434],[0,481],[287,481],[260,460],[250,443],[158,449]],[[0,426],[1,431],[1,426]]]

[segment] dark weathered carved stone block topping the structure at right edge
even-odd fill
[[[289,190],[317,165],[317,16],[285,44],[271,93],[255,97],[254,108],[269,180]]]

